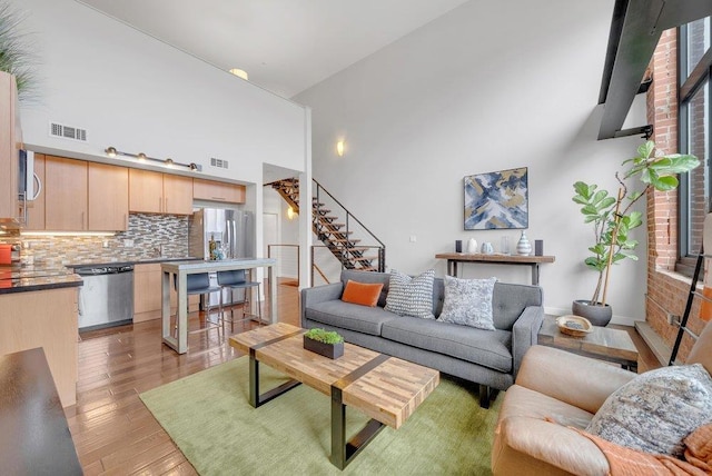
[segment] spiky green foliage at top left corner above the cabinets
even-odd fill
[[[19,32],[24,17],[0,0],[0,71],[14,76],[20,100],[32,95],[34,87],[34,56],[27,44],[27,37]]]

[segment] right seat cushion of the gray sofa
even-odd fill
[[[384,321],[380,335],[389,340],[453,356],[498,371],[512,371],[512,333],[409,317]]]

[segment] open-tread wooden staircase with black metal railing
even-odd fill
[[[294,211],[299,211],[299,179],[289,178],[270,184]],[[339,260],[346,269],[362,271],[384,271],[386,269],[386,247],[374,234],[372,234],[356,217],[354,217],[342,204],[326,191],[324,187],[314,180],[315,196],[312,197],[312,229]],[[338,208],[334,211],[326,208]],[[343,222],[339,222],[343,220]],[[363,246],[360,238],[354,238],[355,229],[360,231],[364,239],[375,242],[372,246]],[[362,236],[360,234],[358,236]]]

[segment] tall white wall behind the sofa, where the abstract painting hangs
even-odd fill
[[[568,313],[595,281],[583,265],[592,231],[571,201],[572,184],[613,189],[613,172],[642,141],[596,140],[613,3],[473,0],[298,95],[313,109],[314,177],[385,241],[390,268],[434,267],[442,276],[445,262],[434,256],[454,251],[456,239],[498,247],[506,235],[515,247],[520,236],[463,231],[463,177],[528,167],[527,235],[556,256],[542,267],[545,305]],[[644,317],[639,239],[641,260],[612,275],[614,321]],[[530,276],[528,268],[465,269],[492,275]]]

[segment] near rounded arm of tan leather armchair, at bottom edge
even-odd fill
[[[605,455],[563,425],[530,417],[502,419],[495,429],[492,473],[498,475],[610,474]]]

